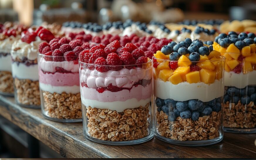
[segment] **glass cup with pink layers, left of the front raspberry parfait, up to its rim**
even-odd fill
[[[52,121],[81,122],[78,56],[68,58],[38,53],[41,109]]]

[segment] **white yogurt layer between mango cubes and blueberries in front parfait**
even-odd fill
[[[181,82],[177,85],[161,79],[154,80],[154,96],[161,99],[174,99],[175,101],[187,101],[199,99],[203,102],[211,101],[224,95],[222,80],[215,80],[212,84]]]

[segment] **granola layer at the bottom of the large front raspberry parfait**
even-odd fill
[[[125,109],[123,112],[86,107],[90,136],[107,141],[136,140],[149,135],[149,106]],[[85,107],[84,105],[82,107]]]

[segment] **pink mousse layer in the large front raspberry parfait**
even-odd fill
[[[138,85],[137,87],[133,86],[130,91],[121,90],[119,92],[111,92],[106,90],[99,93],[96,89],[87,87],[82,87],[80,91],[83,98],[101,102],[126,101],[132,98],[136,98],[138,101],[140,101],[142,99],[149,99],[151,97],[152,85],[153,82],[151,81],[151,83],[145,87]]]

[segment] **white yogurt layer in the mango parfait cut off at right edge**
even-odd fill
[[[244,88],[247,85],[256,85],[256,70],[247,74],[240,74],[234,72],[224,72],[224,85],[233,86],[237,88]]]

